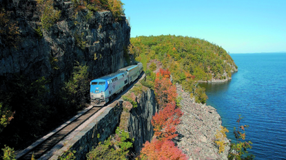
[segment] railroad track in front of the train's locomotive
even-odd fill
[[[31,159],[32,155],[34,155],[35,159],[39,159],[45,152],[50,150],[53,146],[55,146],[59,141],[61,141],[64,137],[72,133],[73,130],[75,130],[78,126],[83,124],[89,117],[94,115],[97,111],[101,109],[101,106],[99,107],[91,107],[90,110],[86,111],[76,119],[73,119],[70,124],[64,126],[63,128],[57,130],[56,133],[51,135],[50,137],[44,139],[43,141],[37,143],[37,145],[32,145],[32,148],[28,148],[26,150],[23,150],[23,153],[21,155],[17,156],[17,159]]]

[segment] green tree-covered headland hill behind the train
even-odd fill
[[[174,83],[182,84],[196,97],[196,102],[205,103],[207,99],[203,89],[197,86],[199,81],[227,79],[232,76],[232,66],[236,67],[225,49],[199,38],[139,36],[131,38],[130,42],[130,54],[143,63],[146,75],[150,76],[144,85],[150,86],[154,80],[152,71],[157,67],[151,60],[156,60],[169,69]]]

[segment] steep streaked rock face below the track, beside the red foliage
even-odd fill
[[[154,91],[148,89],[136,98],[137,107],[130,111],[128,130],[134,138],[134,150],[139,153],[145,141],[151,141],[154,135],[151,119],[158,111]]]

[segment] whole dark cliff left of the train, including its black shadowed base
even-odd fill
[[[52,2],[49,7],[61,16],[39,32],[43,24],[37,1],[0,0],[1,18],[6,15],[10,24],[19,27],[15,47],[7,34],[0,32],[0,103],[15,111],[14,119],[0,133],[0,146],[21,149],[31,144],[76,112],[79,102],[83,108],[90,98],[90,80],[130,63],[125,60],[130,45],[125,16],[116,19],[107,10],[77,9],[72,1]],[[0,31],[9,31],[10,26],[0,20]],[[84,81],[70,85],[78,91],[71,96],[65,86],[74,80],[77,64],[88,70],[79,74]]]

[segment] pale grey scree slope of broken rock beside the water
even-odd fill
[[[220,130],[221,116],[216,109],[205,104],[197,104],[190,98],[190,94],[176,85],[177,93],[181,98],[181,124],[178,125],[178,148],[190,159],[227,159],[229,146],[225,152],[218,154],[215,145],[216,130]],[[228,139],[225,139],[229,142]]]

